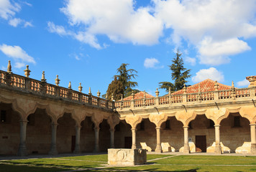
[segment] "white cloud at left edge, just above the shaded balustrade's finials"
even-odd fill
[[[0,45],[0,50],[6,56],[14,59],[15,67],[24,67],[24,62],[30,62],[35,64],[35,59],[27,54],[21,47],[19,46],[11,46],[6,44]]]

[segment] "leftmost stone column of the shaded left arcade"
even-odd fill
[[[19,150],[17,156],[27,156],[27,147],[26,147],[26,133],[27,133],[27,120],[19,121],[20,125],[20,135],[19,135]]]

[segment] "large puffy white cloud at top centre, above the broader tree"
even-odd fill
[[[81,30],[76,39],[101,48],[97,35],[104,34],[116,43],[152,45],[163,33],[163,24],[150,14],[151,8],[134,9],[133,0],[68,0],[61,9],[69,24]]]

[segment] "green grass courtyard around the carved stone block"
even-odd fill
[[[15,171],[256,171],[256,156],[147,155],[147,165],[107,166],[107,155],[0,161],[1,172]]]

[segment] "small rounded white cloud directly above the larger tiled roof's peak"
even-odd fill
[[[224,75],[214,67],[203,69],[196,72],[196,76],[192,77],[193,82],[201,82],[206,79],[216,80],[218,82],[224,81]]]

